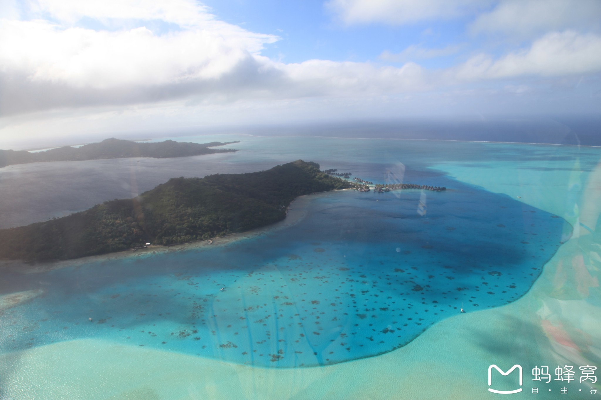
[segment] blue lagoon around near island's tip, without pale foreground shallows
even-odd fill
[[[432,325],[436,332],[441,321],[467,321],[520,299],[562,243],[596,226],[583,222],[578,207],[599,162],[595,148],[216,138],[228,139],[242,140],[233,145],[240,152],[190,158],[197,164],[188,173],[260,170],[303,158],[373,182],[449,190],[305,196],[291,206],[305,215],[296,224],[214,248],[3,272],[2,294],[42,294],[0,316],[0,353],[15,360],[36,348],[90,339],[261,368],[357,360],[350,365],[410,342],[418,346],[420,335]],[[184,160],[172,162],[177,169]],[[159,163],[165,161],[133,165],[133,175]],[[586,298],[598,306],[598,297]],[[462,306],[468,314],[459,314]],[[8,389],[0,387],[10,394],[11,385],[19,386],[11,379]]]

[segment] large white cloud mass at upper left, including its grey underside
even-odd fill
[[[215,20],[192,0],[100,4],[42,0],[31,12],[52,22],[0,20],[2,115],[160,101],[218,87],[227,92],[231,85],[243,89],[263,82],[257,56],[278,40]],[[118,19],[124,26],[129,24],[123,19],[132,17],[178,25],[162,33],[144,21],[116,31],[73,25],[83,17]]]

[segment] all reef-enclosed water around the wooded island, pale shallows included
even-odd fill
[[[34,296],[0,315],[0,396],[52,398],[69,387],[85,398],[144,390],[182,398],[174,387],[192,385],[200,394],[215,386],[247,398],[317,398],[343,384],[332,398],[361,397],[370,386],[373,398],[386,398],[389,389],[377,390],[392,376],[398,382],[391,387],[402,383],[407,393],[453,398],[466,386],[451,383],[460,365],[468,377],[481,375],[481,365],[486,376],[490,363],[508,359],[525,370],[556,360],[600,365],[599,320],[591,313],[600,305],[599,211],[591,200],[598,148],[231,134],[210,140],[240,140],[230,146],[239,152],[0,169],[7,188],[0,192],[2,227],[133,197],[174,176],[251,172],[297,159],[374,183],[447,191],[314,194],[291,205],[303,215],[296,223],[223,245],[41,273],[3,271],[0,296]],[[507,314],[511,307],[517,311]],[[519,335],[507,342],[510,329]],[[153,365],[172,375],[153,384],[142,372],[126,382],[105,371],[99,386],[84,372],[73,380],[64,367],[46,371],[56,363],[49,354],[72,365],[87,354],[101,372],[128,354],[139,360],[133,369]],[[174,374],[183,365],[186,372]],[[186,377],[209,367],[225,368],[238,383]],[[431,384],[444,383],[441,392],[408,380],[415,369],[433,374]],[[353,380],[358,371],[365,376]],[[84,381],[90,387],[82,388]],[[463,398],[489,395],[486,380],[470,385]]]

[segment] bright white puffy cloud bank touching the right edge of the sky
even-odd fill
[[[574,31],[552,32],[535,40],[529,49],[511,52],[496,61],[488,55],[474,56],[452,68],[456,79],[513,78],[520,76],[569,76],[601,71],[601,36]]]

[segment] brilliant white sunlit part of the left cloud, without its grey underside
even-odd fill
[[[216,79],[275,38],[197,29],[156,35],[145,27],[107,32],[47,22],[0,25],[0,65],[32,82],[109,89]]]

